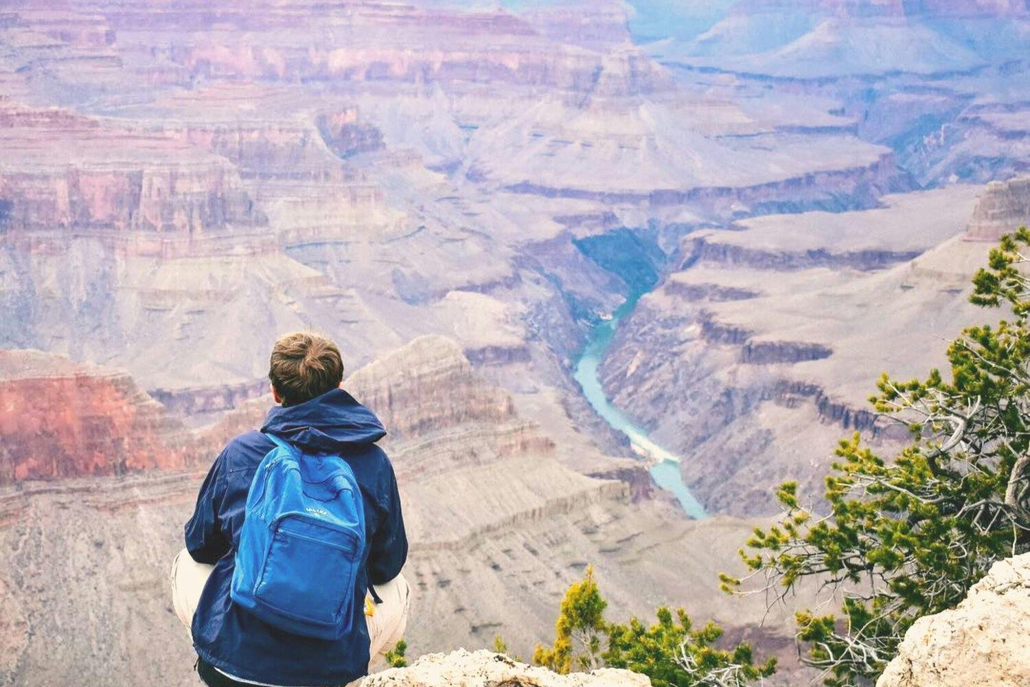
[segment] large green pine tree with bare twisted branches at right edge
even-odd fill
[[[785,516],[756,529],[742,556],[758,589],[786,595],[813,579],[844,594],[839,613],[797,614],[806,661],[834,687],[867,685],[919,617],[954,607],[1000,558],[1030,549],[1030,232],[1001,240],[973,278],[974,304],[1004,308],[996,327],[966,329],[948,349],[950,379],[884,375],[870,399],[912,441],[885,460],[842,441],[826,480],[829,512],[778,491]],[[746,589],[746,592],[742,592]]]

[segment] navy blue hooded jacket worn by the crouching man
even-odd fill
[[[247,491],[258,465],[275,446],[263,432],[311,451],[339,453],[362,490],[368,546],[354,583],[354,616],[360,622],[339,641],[283,632],[230,599]],[[214,563],[193,619],[194,647],[201,658],[242,680],[288,687],[343,685],[367,673],[366,590],[397,577],[408,555],[397,478],[389,458],[376,446],[385,435],[372,411],[346,391],[333,389],[307,403],[273,408],[261,432],[229,442],[211,466],[185,526],[194,560]]]

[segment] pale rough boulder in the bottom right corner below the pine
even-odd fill
[[[951,611],[917,620],[877,687],[1023,687],[1030,554],[1001,560]]]

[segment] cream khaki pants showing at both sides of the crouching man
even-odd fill
[[[186,626],[187,632],[191,631],[194,612],[213,569],[214,565],[198,563],[185,549],[179,551],[172,561],[172,606],[175,615]],[[369,639],[372,642],[369,650],[372,656],[370,667],[404,637],[404,629],[408,624],[408,606],[411,602],[411,590],[403,575],[398,575],[386,584],[376,585],[376,594],[383,603],[373,605],[372,615],[365,617],[369,626]],[[351,685],[359,682],[352,682]]]

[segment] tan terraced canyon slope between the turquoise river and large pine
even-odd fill
[[[684,457],[711,510],[775,512],[786,480],[818,499],[839,437],[884,452],[905,437],[867,406],[878,373],[925,374],[943,333],[984,316],[966,298],[987,246],[960,239],[980,192],[688,235],[683,269],[620,327],[606,389]]]

